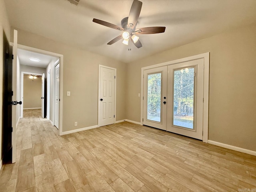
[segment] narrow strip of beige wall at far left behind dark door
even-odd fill
[[[3,108],[3,31],[10,41],[10,23],[6,14],[4,0],[0,0],[0,109]],[[2,110],[0,110],[0,161],[2,160]]]

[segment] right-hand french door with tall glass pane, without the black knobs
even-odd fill
[[[204,59],[168,66],[167,131],[203,138]]]

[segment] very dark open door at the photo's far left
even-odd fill
[[[2,157],[4,162],[12,162],[12,46],[3,37],[3,127]]]

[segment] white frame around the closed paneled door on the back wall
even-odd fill
[[[115,71],[115,77],[116,77],[116,68],[112,68],[112,67],[104,66],[104,65],[99,65],[99,68],[98,68],[98,127],[99,127],[99,116],[100,116],[100,67],[104,67],[104,68],[114,70]],[[116,78],[114,78],[114,80],[115,80],[114,124],[116,123]]]

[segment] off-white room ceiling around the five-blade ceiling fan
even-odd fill
[[[107,43],[121,32],[92,22],[121,26],[133,0],[4,0],[10,23],[52,40],[132,62],[227,30],[256,23],[256,0],[141,0],[137,28],[166,26],[161,34],[141,34],[142,48]]]

